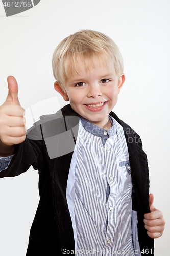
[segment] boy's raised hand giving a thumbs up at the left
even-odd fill
[[[8,96],[0,106],[0,153],[6,156],[11,153],[14,144],[23,142],[26,138],[25,110],[18,100],[18,84],[13,76],[7,78]],[[13,146],[13,147],[11,147]]]

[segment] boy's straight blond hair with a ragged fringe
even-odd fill
[[[63,39],[55,49],[52,59],[53,74],[64,89],[69,72],[79,73],[79,59],[84,62],[85,69],[89,70],[103,62],[107,65],[108,58],[113,60],[116,75],[120,77],[124,69],[123,58],[115,42],[103,33],[81,30]]]

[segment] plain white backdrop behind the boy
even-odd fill
[[[163,236],[155,240],[155,255],[166,256],[170,255],[169,8],[169,0],[41,0],[7,18],[0,3],[0,104],[8,94],[9,75],[18,81],[23,108],[47,100],[46,114],[49,104],[53,112],[65,104],[53,87],[51,59],[69,34],[93,29],[119,46],[126,81],[114,112],[141,135],[154,205],[166,220]],[[57,107],[52,97],[59,102]],[[40,114],[41,106],[36,105]],[[19,177],[1,179],[0,195],[0,255],[23,256],[39,200],[38,172],[30,168]]]

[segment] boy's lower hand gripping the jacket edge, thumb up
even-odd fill
[[[165,220],[160,210],[157,210],[154,205],[154,195],[149,195],[150,210],[149,214],[144,214],[144,227],[147,229],[147,234],[151,238],[159,238],[163,234],[165,228]]]

